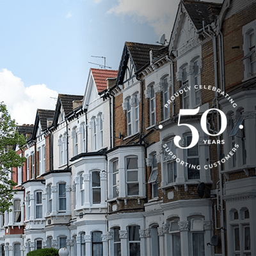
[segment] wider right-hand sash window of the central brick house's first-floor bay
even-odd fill
[[[138,158],[127,157],[126,159],[126,183],[127,195],[139,195],[139,180],[138,180]]]

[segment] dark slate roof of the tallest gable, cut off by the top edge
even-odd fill
[[[195,24],[196,29],[203,28],[203,20],[205,25],[211,24],[209,7],[220,9],[221,4],[202,2],[202,1],[182,1],[182,4],[186,8],[189,17]]]

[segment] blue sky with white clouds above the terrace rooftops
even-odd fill
[[[222,3],[221,0],[216,0]],[[0,1],[0,101],[17,124],[84,95],[89,62],[117,70],[124,43],[170,40],[179,0]],[[99,56],[100,58],[93,58]]]

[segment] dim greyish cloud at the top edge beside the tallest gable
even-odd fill
[[[148,22],[157,35],[161,36],[165,33],[169,40],[179,2],[179,0],[118,0],[118,4],[108,13],[118,16],[129,15],[138,19],[139,22]],[[222,0],[216,0],[216,2],[222,3]]]

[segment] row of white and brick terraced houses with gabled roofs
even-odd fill
[[[180,1],[168,44],[125,42],[118,70],[91,68],[84,95],[19,126],[1,255],[256,255],[255,13]]]

